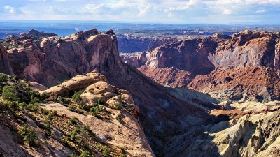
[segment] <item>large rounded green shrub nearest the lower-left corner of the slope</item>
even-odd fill
[[[25,126],[20,126],[18,133],[22,136],[22,140],[27,142],[30,147],[36,145],[38,133],[34,131],[34,128],[30,128],[27,124],[25,124]]]

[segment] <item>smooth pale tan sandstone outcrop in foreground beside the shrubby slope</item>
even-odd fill
[[[58,114],[67,117],[78,117],[83,124],[90,126],[103,142],[125,148],[128,156],[154,156],[139,122],[139,109],[134,105],[131,94],[109,84],[106,77],[97,71],[77,75],[71,80],[41,91],[41,94],[69,96],[75,91],[83,91],[81,96],[86,105],[94,106],[97,100],[102,100],[102,110],[109,113],[106,114],[106,120],[71,112],[58,103],[46,104],[45,108],[57,110]]]

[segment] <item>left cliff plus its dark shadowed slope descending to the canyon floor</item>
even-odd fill
[[[113,31],[98,33],[93,29],[66,37],[25,36],[10,42],[19,43],[8,55],[14,73],[19,77],[51,87],[78,74],[97,70],[106,76],[109,84],[130,91],[139,107],[141,126],[157,156],[165,156],[162,149],[166,138],[190,125],[211,121],[207,110],[199,103],[174,97],[165,87],[123,63]],[[64,93],[64,89],[57,91]],[[84,96],[89,101],[97,98]]]

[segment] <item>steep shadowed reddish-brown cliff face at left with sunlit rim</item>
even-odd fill
[[[119,67],[120,64],[116,36],[97,30],[64,38],[25,38],[18,39],[22,43],[20,47],[9,50],[13,72],[48,87],[78,73],[89,73],[100,67]]]

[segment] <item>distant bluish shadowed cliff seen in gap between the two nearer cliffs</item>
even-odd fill
[[[118,38],[118,47],[122,53],[144,52],[176,41],[178,41],[176,38],[130,38],[120,36]]]

